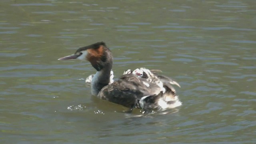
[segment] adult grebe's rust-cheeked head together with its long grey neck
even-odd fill
[[[92,95],[97,95],[104,86],[109,84],[113,58],[104,42],[97,42],[78,48],[74,54],[59,58],[58,60],[69,59],[88,60],[97,70],[91,81]]]

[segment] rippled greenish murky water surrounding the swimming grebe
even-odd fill
[[[256,143],[256,1],[2,0],[0,143]],[[115,78],[174,78],[183,105],[142,114],[90,95],[89,62],[58,61],[104,41]]]

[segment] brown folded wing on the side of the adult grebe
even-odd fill
[[[156,84],[147,82],[147,85],[143,82],[146,81],[133,74],[126,74],[102,88],[98,96],[110,102],[133,108],[143,96],[160,93],[160,88]]]

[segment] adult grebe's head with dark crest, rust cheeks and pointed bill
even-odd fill
[[[97,42],[89,46],[78,48],[74,54],[64,56],[58,60],[69,59],[88,60],[97,71],[102,70],[106,64],[110,64],[112,67],[112,55],[104,42]]]

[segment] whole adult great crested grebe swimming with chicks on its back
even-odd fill
[[[97,70],[91,81],[91,93],[101,99],[131,109],[166,109],[182,104],[172,87],[172,84],[178,83],[146,68],[125,71],[110,84],[113,58],[104,42],[78,48],[74,54],[58,60],[68,59],[88,60]]]

